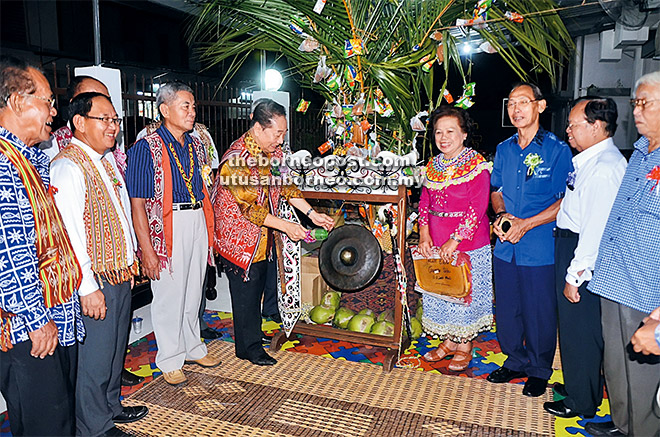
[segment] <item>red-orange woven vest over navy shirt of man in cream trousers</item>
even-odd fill
[[[197,155],[197,162],[206,162],[204,145],[191,136],[193,148]],[[151,159],[154,162],[154,197],[146,199],[145,209],[151,233],[151,245],[158,255],[161,269],[172,268],[172,167],[170,157],[163,139],[157,132],[153,132],[144,139],[149,144]],[[167,189],[165,189],[167,187]],[[213,209],[211,196],[202,184],[204,193],[204,217],[206,219],[206,232],[209,249],[213,246]],[[209,250],[209,256],[211,250]],[[141,251],[138,250],[138,256]]]

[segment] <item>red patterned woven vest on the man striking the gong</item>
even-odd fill
[[[229,147],[229,150],[222,157],[220,168],[227,161],[235,158],[242,158],[245,162],[250,157],[245,147],[245,135],[234,141]],[[256,157],[255,157],[256,158]],[[282,161],[282,151],[278,148],[273,153],[273,158],[278,158]],[[255,159],[256,163],[257,160]],[[250,178],[255,181],[261,181],[259,170],[256,165],[250,166]],[[268,196],[266,190],[262,185],[257,185],[259,192],[257,196],[257,204],[264,206],[266,202],[270,204],[270,211],[273,215],[277,215],[277,205],[280,198],[281,187],[279,185],[271,185],[268,189]],[[212,193],[213,211],[215,213],[215,232],[214,232],[214,247],[215,250],[225,259],[245,270],[247,274],[250,265],[257,252],[259,239],[261,237],[261,227],[255,225],[245,218],[241,212],[234,195],[222,185],[222,178],[217,177],[213,186]]]

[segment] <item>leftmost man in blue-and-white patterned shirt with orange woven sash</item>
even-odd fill
[[[74,433],[80,267],[52,195],[44,75],[0,57],[0,392],[13,435]]]

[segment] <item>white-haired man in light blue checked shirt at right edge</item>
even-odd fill
[[[630,338],[660,307],[660,71],[642,76],[631,100],[642,135],[621,181],[587,288],[601,299],[603,373],[612,422],[589,423],[591,435],[658,436],[653,398],[660,357],[633,351]]]

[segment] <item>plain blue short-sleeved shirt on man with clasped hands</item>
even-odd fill
[[[528,155],[537,154],[541,160],[534,174],[527,176],[524,164]],[[566,177],[573,170],[571,150],[552,132],[539,128],[527,147],[518,145],[518,134],[497,146],[490,183],[504,197],[508,213],[520,218],[535,216],[561,199],[566,190]],[[520,266],[546,266],[555,262],[552,230],[555,222],[530,229],[520,241],[511,244],[497,241],[493,254],[501,260],[515,261]]]

